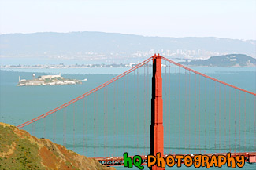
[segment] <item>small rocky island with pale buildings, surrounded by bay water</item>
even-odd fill
[[[83,81],[87,81],[84,79]],[[19,83],[17,86],[30,86],[30,85],[76,85],[82,84],[82,81],[76,79],[69,79],[61,77],[61,74],[55,75],[41,75],[38,78],[35,78],[33,74],[32,80],[21,79],[19,76]]]

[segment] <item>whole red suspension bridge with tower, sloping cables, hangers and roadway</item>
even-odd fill
[[[124,165],[124,152],[143,164],[158,152],[231,153],[252,163],[255,95],[158,54],[17,127],[104,165]]]

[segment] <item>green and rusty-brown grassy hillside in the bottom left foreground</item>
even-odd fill
[[[38,139],[13,125],[0,123],[0,169],[114,169],[67,150],[49,139]]]

